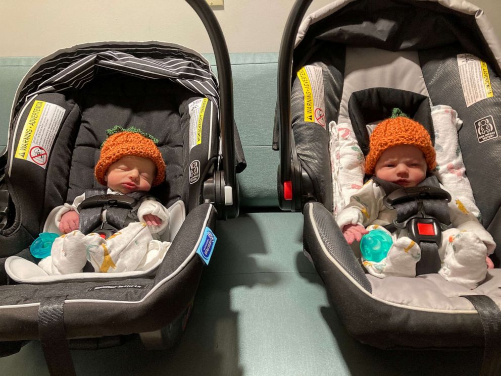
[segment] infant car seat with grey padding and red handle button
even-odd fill
[[[476,6],[454,0],[338,0],[299,26],[310,3],[294,4],[279,56],[281,208],[303,210],[305,252],[358,340],[381,348],[484,346],[483,371],[499,369],[501,49],[492,28]],[[367,274],[335,222],[339,202],[363,184],[363,173],[352,173],[363,171],[371,127],[393,107],[427,127],[437,158],[453,143],[454,156],[462,154],[467,178],[443,160],[436,174],[445,188],[450,177],[469,181],[472,207],[497,243],[496,267],[474,290],[438,274]],[[448,133],[435,119],[439,110],[453,125]],[[338,135],[353,143],[336,146]]]

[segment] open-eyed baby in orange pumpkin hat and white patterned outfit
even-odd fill
[[[365,167],[368,175],[402,187],[415,187],[435,167],[435,149],[428,132],[406,116],[384,120],[370,136]],[[383,204],[384,197],[383,188],[371,179],[350,198],[336,219],[348,244],[360,241],[374,228],[390,234],[383,226],[393,222],[396,210]],[[492,267],[488,257],[486,264],[486,256],[493,253],[496,245],[461,201],[453,197],[448,209],[452,227],[442,232],[438,273],[447,281],[473,289],[485,279],[487,265]],[[364,266],[379,278],[415,277],[416,263],[421,258],[419,245],[407,236],[406,229],[397,229],[390,235],[393,244],[386,257],[380,262],[363,260]]]

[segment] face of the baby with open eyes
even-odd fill
[[[413,145],[398,145],[383,151],[374,169],[377,178],[404,187],[415,187],[426,177],[423,152]]]

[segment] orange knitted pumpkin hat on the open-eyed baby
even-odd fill
[[[391,118],[379,123],[369,138],[369,153],[365,158],[365,173],[374,174],[376,163],[384,150],[397,145],[414,145],[423,152],[428,170],[437,163],[430,134],[418,122],[409,119],[398,109],[393,109]]]

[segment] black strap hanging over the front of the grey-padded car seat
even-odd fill
[[[501,310],[486,295],[463,295],[480,316],[484,333],[484,356],[480,376],[501,374]]]

